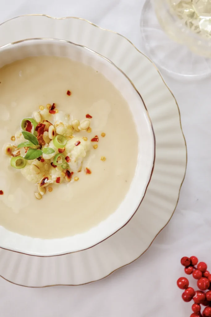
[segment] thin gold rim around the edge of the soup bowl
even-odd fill
[[[11,45],[16,45],[16,44],[20,44],[20,43],[23,43],[23,42],[28,42],[28,41],[39,41],[39,40],[51,40],[51,41],[56,41],[56,42],[64,42],[64,43],[69,43],[69,44],[72,44],[74,46],[78,46],[78,47],[81,47],[83,49],[86,49],[94,54],[96,54],[97,56],[100,56],[101,58],[103,58],[104,60],[108,61],[111,65],[113,65],[116,69],[118,69],[124,76],[125,78],[129,81],[129,83],[133,86],[134,90],[136,91],[136,93],[138,94],[138,96],[140,97],[143,105],[144,105],[144,108],[145,108],[145,112],[146,112],[146,115],[147,115],[147,118],[149,120],[149,125],[151,127],[151,132],[152,132],[152,137],[153,137],[153,160],[152,160],[152,168],[151,168],[151,171],[150,171],[150,174],[149,174],[149,179],[148,179],[148,182],[147,182],[147,185],[146,185],[146,188],[145,188],[145,191],[144,191],[144,194],[138,204],[138,207],[135,209],[135,211],[133,212],[132,216],[126,221],[126,223],[124,223],[118,230],[116,230],[114,233],[112,233],[111,235],[109,235],[108,237],[104,238],[103,240],[91,245],[90,247],[88,248],[85,248],[85,249],[81,249],[81,250],[77,250],[77,251],[71,251],[71,252],[65,252],[65,253],[62,253],[62,254],[54,254],[54,255],[35,255],[35,254],[28,254],[28,253],[25,253],[25,252],[21,252],[21,251],[16,251],[16,250],[11,250],[11,249],[7,249],[7,248],[3,248],[3,247],[0,247],[0,249],[5,249],[5,250],[8,250],[8,251],[12,251],[12,252],[17,252],[17,253],[22,253],[22,254],[25,254],[25,255],[28,255],[28,256],[38,256],[38,257],[53,257],[53,256],[63,256],[63,255],[67,255],[67,254],[71,254],[71,253],[76,253],[76,252],[80,252],[80,251],[84,251],[84,250],[87,250],[87,249],[91,249],[93,247],[95,247],[97,244],[107,240],[108,238],[110,238],[111,236],[113,236],[116,232],[118,232],[119,230],[121,230],[124,226],[127,225],[127,223],[133,218],[133,216],[135,215],[136,211],[139,209],[140,207],[140,204],[142,203],[144,197],[145,197],[145,194],[146,194],[146,190],[149,186],[149,183],[151,181],[151,178],[152,178],[152,173],[153,173],[153,170],[154,170],[154,164],[155,164],[155,147],[156,147],[156,140],[155,140],[155,133],[154,133],[154,129],[153,129],[153,126],[152,126],[152,121],[150,119],[150,116],[149,116],[149,113],[148,113],[148,110],[146,108],[146,105],[144,103],[144,100],[143,98],[141,97],[139,91],[136,89],[135,85],[133,84],[133,82],[130,80],[130,78],[119,68],[117,67],[112,61],[110,61],[108,58],[104,57],[103,55],[97,53],[96,51],[92,50],[92,49],[89,49],[88,47],[84,46],[84,45],[80,45],[80,44],[76,44],[76,43],[73,43],[71,41],[68,41],[68,40],[60,40],[60,39],[55,39],[55,38],[42,38],[42,37],[36,37],[36,38],[30,38],[30,39],[25,39],[25,40],[20,40],[20,41],[16,41],[16,42],[12,42],[12,43],[9,43],[9,44],[5,44],[3,46],[0,46],[0,49],[4,49],[4,48],[7,48]],[[61,238],[62,239],[62,238]],[[42,239],[43,240],[43,239]]]

